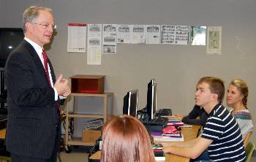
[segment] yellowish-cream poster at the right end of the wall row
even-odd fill
[[[208,26],[206,53],[222,54],[222,27]]]

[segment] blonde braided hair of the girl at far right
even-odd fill
[[[244,80],[241,80],[241,79],[235,79],[230,82],[230,85],[234,85],[236,88],[238,88],[240,93],[243,94],[244,98],[242,101],[243,101],[244,107],[247,107],[247,97],[248,97],[249,90],[248,90],[248,86],[246,85],[246,82],[244,82]]]

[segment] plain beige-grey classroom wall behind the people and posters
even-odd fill
[[[238,77],[249,85],[248,106],[256,125],[255,0],[0,0],[0,27],[20,27],[23,10],[35,4],[52,8],[55,15],[58,29],[48,55],[56,74],[106,75],[105,91],[114,93],[116,115],[127,90],[138,88],[139,107],[145,107],[151,78],[158,83],[158,107],[185,115],[195,104],[200,77],[221,77],[225,85]],[[206,47],[199,46],[118,45],[116,55],[102,55],[101,66],[89,66],[86,53],[67,53],[67,23],[222,26],[222,55],[207,55]]]

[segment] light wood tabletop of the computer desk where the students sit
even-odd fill
[[[198,131],[200,129],[200,126],[192,126],[190,128],[182,128],[181,134],[184,136],[184,141],[189,141],[191,139],[197,138]],[[99,160],[100,159],[100,151],[97,151],[97,153],[94,153],[94,155],[91,155],[91,160]],[[166,160],[167,162],[189,162],[189,158],[185,158],[183,156],[179,155],[173,155],[170,153],[166,154]]]

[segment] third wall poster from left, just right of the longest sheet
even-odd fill
[[[102,25],[102,53],[116,54],[116,24]]]

